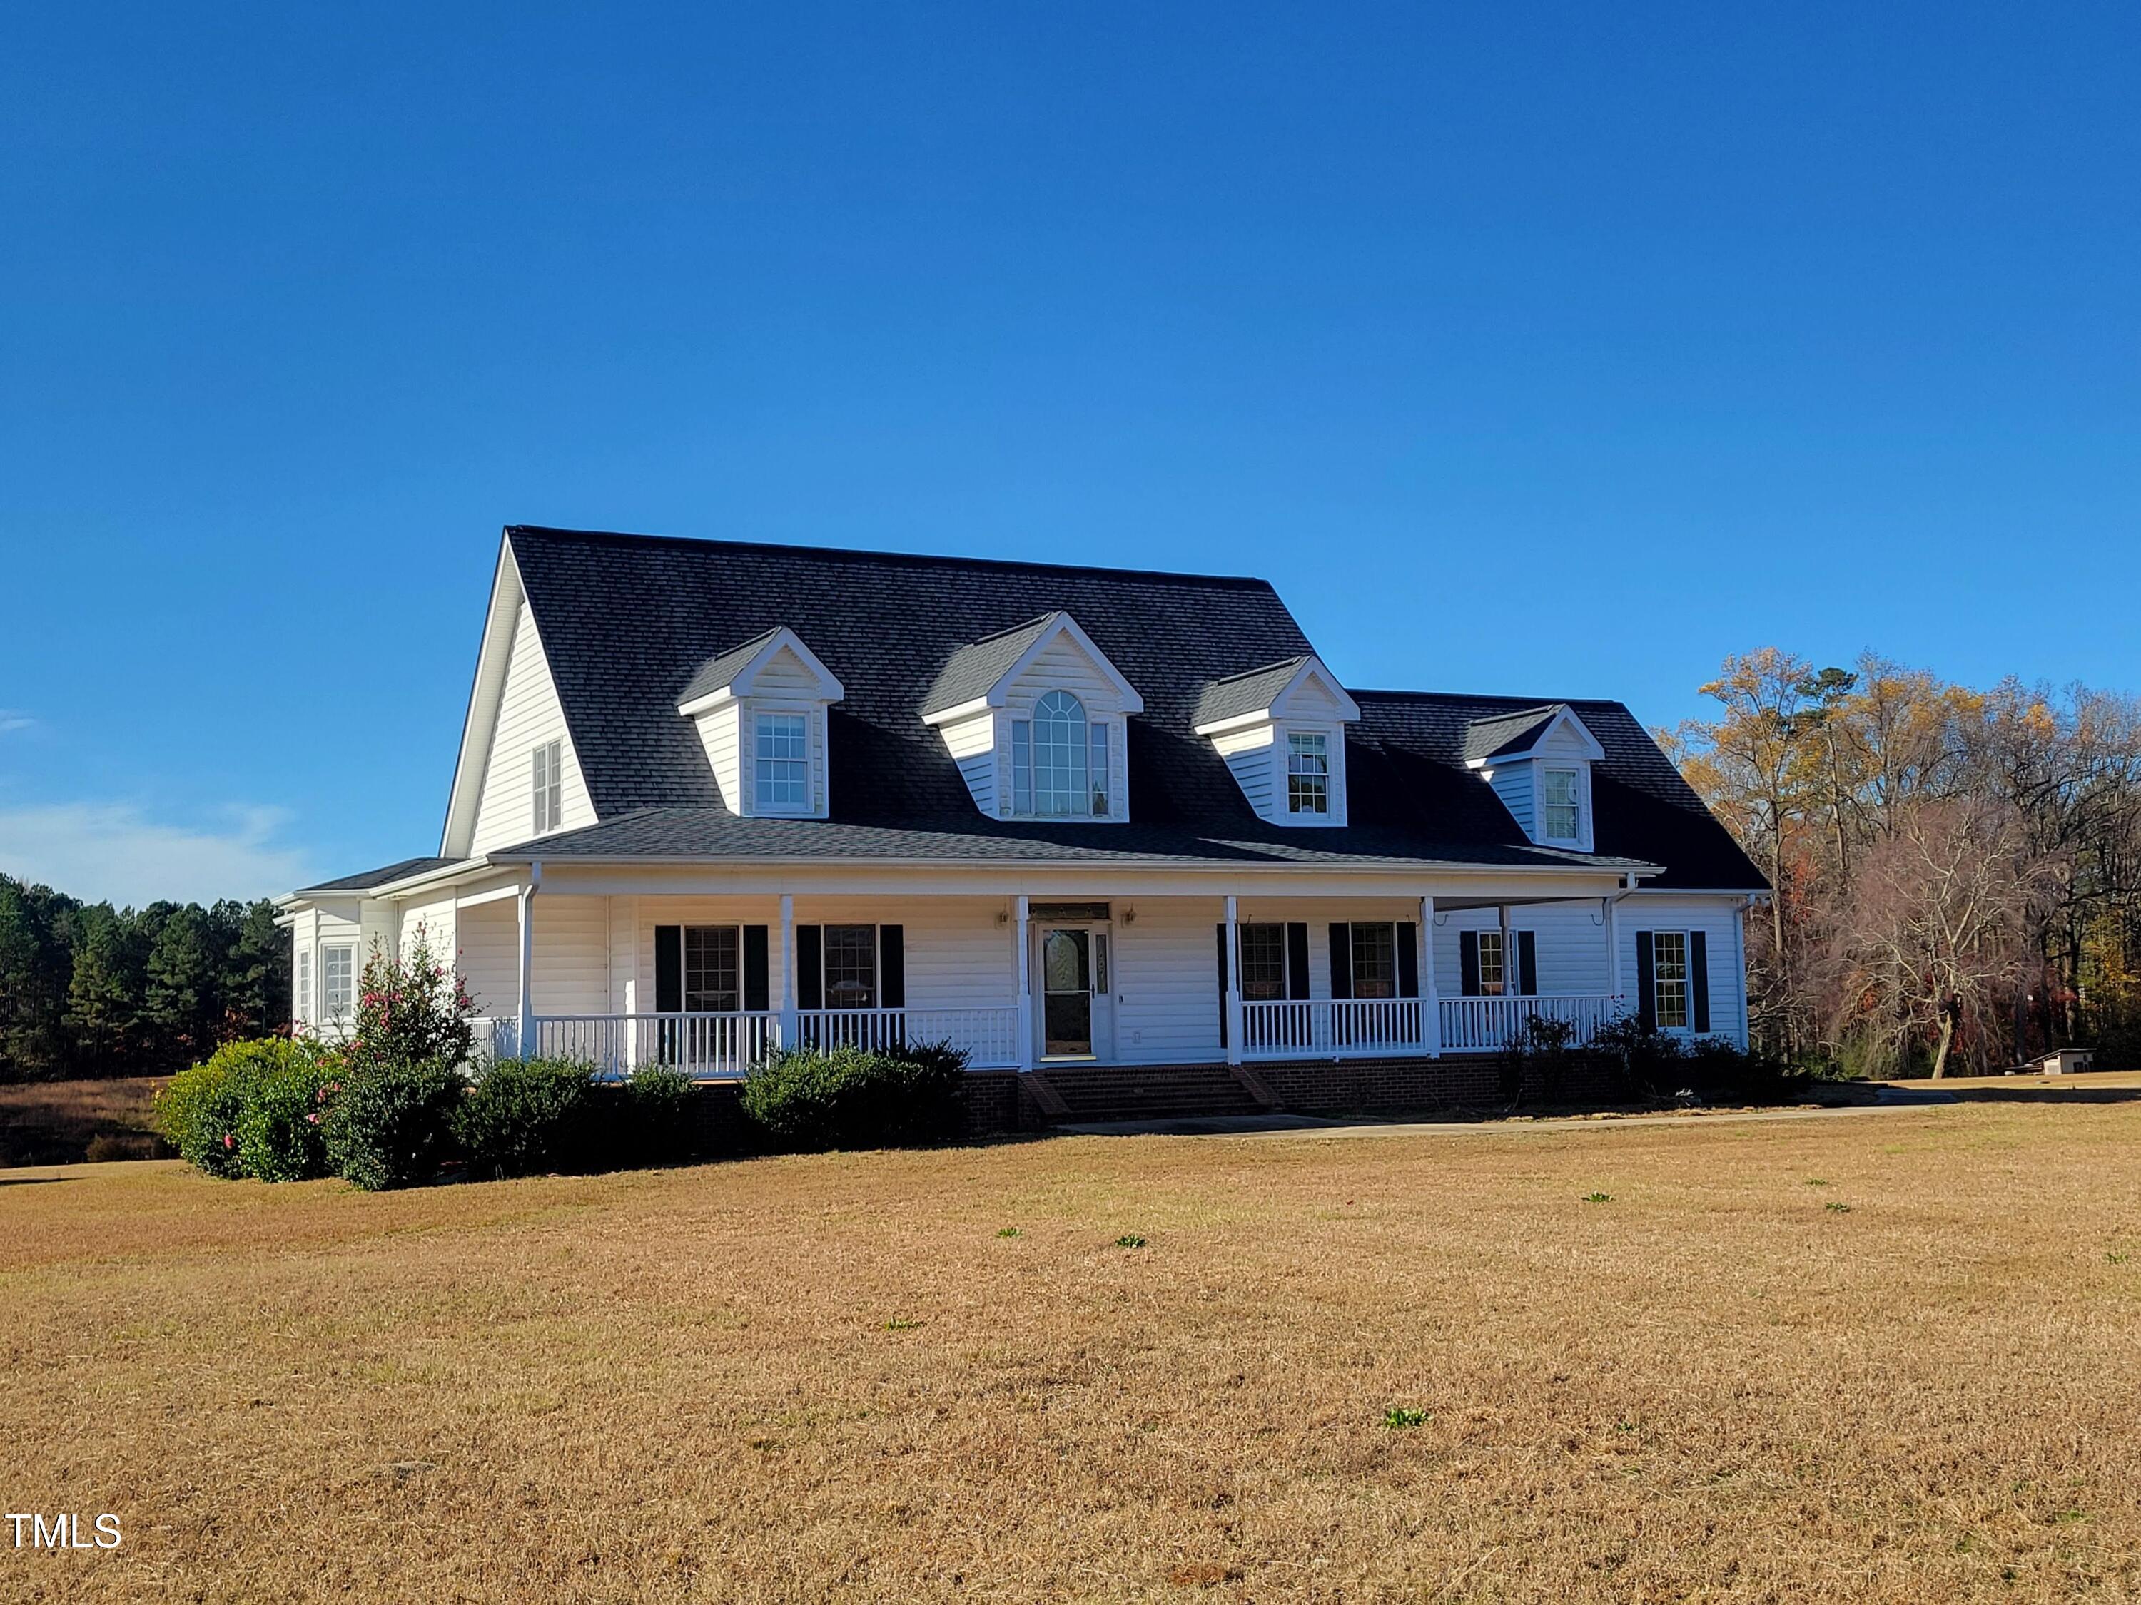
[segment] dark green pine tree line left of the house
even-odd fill
[[[265,899],[116,910],[0,875],[0,1081],[167,1074],[287,1023]]]

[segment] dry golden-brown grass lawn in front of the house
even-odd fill
[[[2137,1160],[2107,1102],[15,1173],[0,1498],[124,1547],[0,1532],[0,1599],[2135,1599]]]

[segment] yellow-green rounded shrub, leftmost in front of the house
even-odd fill
[[[171,1076],[156,1096],[156,1126],[208,1175],[328,1175],[321,1117],[338,1064],[332,1049],[308,1038],[225,1042],[206,1064]]]

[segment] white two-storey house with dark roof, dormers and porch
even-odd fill
[[[1619,702],[1347,689],[1261,580],[516,526],[437,856],[283,910],[308,1029],[424,931],[499,1053],[1312,1106],[1529,1014],[1745,1042],[1762,892]]]

